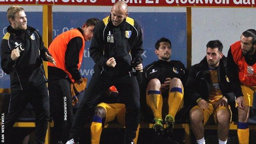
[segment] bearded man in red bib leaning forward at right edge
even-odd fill
[[[228,74],[238,105],[238,139],[249,144],[249,109],[256,91],[256,30],[242,33],[228,52]]]

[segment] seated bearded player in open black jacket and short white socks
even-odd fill
[[[219,40],[209,41],[206,57],[199,64],[191,66],[188,74],[187,92],[197,103],[190,110],[190,122],[198,144],[205,144],[203,125],[211,115],[218,123],[219,144],[226,144],[229,135],[231,109],[227,98],[233,93],[229,93],[226,57],[222,48]]]

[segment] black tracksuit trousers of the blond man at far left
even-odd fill
[[[11,89],[9,110],[5,118],[5,136],[7,137],[5,144],[9,144],[9,139],[14,138],[8,132],[25,109],[27,103],[32,105],[36,115],[36,144],[44,144],[49,119],[49,96],[46,83],[26,90]]]

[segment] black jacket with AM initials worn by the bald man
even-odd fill
[[[142,59],[141,28],[129,17],[118,26],[114,26],[111,16],[108,16],[94,28],[89,52],[96,63],[95,72],[106,73],[110,77],[128,75],[131,71],[132,58]],[[111,57],[114,57],[117,62],[114,68],[106,65]]]

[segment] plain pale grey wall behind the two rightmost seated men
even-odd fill
[[[242,32],[256,29],[255,8],[192,8],[192,64],[206,55],[206,44],[219,39],[223,53],[240,40]]]

